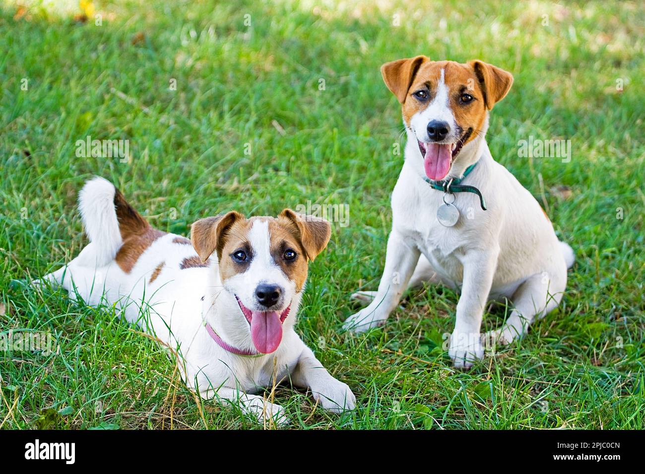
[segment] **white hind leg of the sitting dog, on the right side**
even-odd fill
[[[524,281],[513,293],[513,310],[504,325],[486,336],[491,342],[510,344],[520,339],[536,319],[541,319],[560,304],[566,286],[561,275],[551,278],[548,272],[536,273]],[[487,339],[488,340],[488,339]]]

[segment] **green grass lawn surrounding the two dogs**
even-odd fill
[[[103,26],[0,7],[0,331],[49,331],[58,344],[48,356],[0,353],[2,427],[44,426],[47,409],[68,428],[256,427],[239,410],[197,403],[164,351],[114,311],[19,283],[83,248],[76,194],[99,174],[154,226],[184,235],[230,209],[349,206],[349,226],[335,224],[310,266],[297,331],[359,408],[328,415],[279,388],[292,428],[642,428],[645,9],[310,4],[100,1]],[[416,54],[513,73],[491,115],[491,152],[577,255],[561,306],[468,371],[453,370],[440,347],[458,299],[444,288],[413,291],[382,330],[340,332],[356,309],[350,293],[377,287],[402,164],[392,153],[401,114],[379,66]],[[129,139],[132,159],[76,157],[87,135]],[[570,163],[518,157],[530,135],[570,139]],[[486,330],[503,317],[491,308]]]

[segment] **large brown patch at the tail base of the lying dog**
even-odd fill
[[[123,245],[114,258],[125,273],[130,273],[141,254],[166,232],[152,228],[141,214],[125,200],[119,190],[114,193],[114,208],[119,221],[119,232]]]

